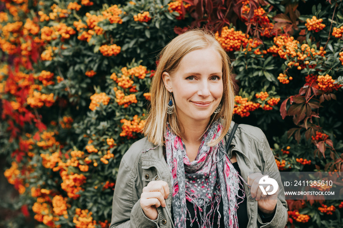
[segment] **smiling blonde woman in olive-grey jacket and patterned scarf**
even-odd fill
[[[111,228],[285,227],[287,203],[262,131],[240,125],[225,151],[234,126],[229,64],[203,30],[187,31],[161,51],[146,137],[121,161]],[[261,172],[277,181],[276,193],[262,194]]]

